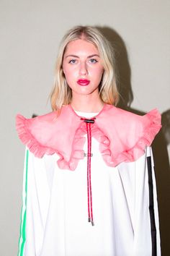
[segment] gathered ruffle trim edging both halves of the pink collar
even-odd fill
[[[158,113],[157,109],[153,109],[145,116],[141,116],[141,119],[143,119],[143,123],[148,122],[148,125],[143,130],[143,135],[141,135],[133,148],[127,148],[124,151],[117,153],[115,152],[116,150],[110,149],[109,138],[104,135],[102,130],[99,129],[96,124],[94,124],[94,127],[91,130],[92,136],[99,142],[99,150],[108,166],[115,167],[122,162],[127,163],[136,161],[141,155],[143,155],[146,146],[151,145],[154,137],[161,129],[161,115]],[[76,129],[73,138],[70,161],[66,161],[58,150],[41,145],[35,137],[33,137],[27,124],[29,119],[25,119],[24,116],[18,114],[16,121],[17,132],[20,140],[22,140],[24,145],[27,145],[27,148],[29,148],[30,152],[32,152],[36,157],[42,158],[45,154],[53,155],[54,153],[57,153],[60,156],[60,159],[58,160],[59,168],[70,169],[72,171],[76,169],[79,160],[84,158],[83,148],[84,142],[86,141],[86,138],[84,137],[86,134],[84,122],[82,122],[80,127]]]

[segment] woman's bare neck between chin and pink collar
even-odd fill
[[[104,102],[99,95],[95,97],[91,95],[79,95],[79,97],[75,97],[73,95],[71,106],[75,111],[97,113],[103,108]]]

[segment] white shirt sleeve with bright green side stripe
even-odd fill
[[[50,189],[45,161],[26,148],[18,256],[40,254],[48,214]]]

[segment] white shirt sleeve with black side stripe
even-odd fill
[[[158,202],[153,154],[146,149],[146,160],[135,163],[134,255],[161,255]]]

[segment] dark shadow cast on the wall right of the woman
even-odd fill
[[[138,111],[138,109],[130,108],[130,104],[133,101],[133,91],[130,82],[131,70],[128,61],[128,52],[126,50],[124,41],[115,30],[112,30],[109,27],[97,28],[105,35],[105,37],[112,43],[112,46],[115,48],[116,66],[119,73],[118,88],[121,95],[120,103],[118,106],[135,114],[146,114],[142,111]],[[170,144],[170,110],[164,112],[161,116],[162,129],[161,132],[159,132],[156,136],[156,139],[152,144],[152,148],[158,192],[161,252],[163,256],[166,256],[169,255],[170,252],[170,166],[169,155],[167,151],[167,146]]]

